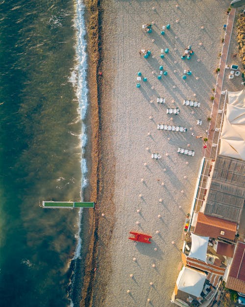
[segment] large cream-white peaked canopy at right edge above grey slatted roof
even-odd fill
[[[228,101],[221,132],[220,154],[245,160],[245,89],[228,92]]]

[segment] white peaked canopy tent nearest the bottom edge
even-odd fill
[[[199,297],[203,289],[206,274],[188,267],[183,267],[176,280],[178,290]]]

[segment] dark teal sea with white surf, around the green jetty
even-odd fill
[[[86,184],[82,12],[79,0],[0,0],[1,307],[78,306],[82,212],[39,203],[80,200]]]

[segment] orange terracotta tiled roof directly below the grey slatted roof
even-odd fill
[[[208,216],[198,212],[194,233],[211,238],[226,238],[234,240],[237,231],[237,223],[222,220],[214,216]]]

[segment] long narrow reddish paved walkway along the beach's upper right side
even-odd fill
[[[228,16],[228,20],[227,20],[227,27],[226,27],[226,32],[224,36],[224,44],[223,44],[223,49],[222,49],[222,54],[221,54],[221,61],[220,61],[220,72],[217,77],[217,83],[216,83],[216,89],[215,89],[215,95],[214,95],[215,99],[213,101],[213,108],[212,108],[212,113],[211,113],[212,119],[210,121],[209,131],[208,131],[208,143],[207,143],[207,148],[204,150],[204,156],[207,158],[215,158],[216,151],[218,149],[218,145],[216,147],[213,147],[215,134],[219,133],[219,132],[215,132],[215,127],[216,127],[217,115],[219,112],[219,106],[220,106],[220,101],[221,101],[221,91],[222,91],[223,80],[224,80],[225,65],[226,65],[227,55],[228,55],[229,46],[230,46],[230,38],[231,38],[232,29],[233,29],[235,13],[236,13],[236,9],[232,8]]]

